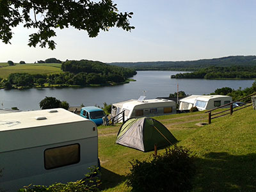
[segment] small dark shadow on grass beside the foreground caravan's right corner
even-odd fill
[[[124,175],[118,175],[114,172],[111,172],[107,170],[106,168],[101,167],[101,182],[102,184],[100,185],[100,189],[109,189],[109,188],[114,188],[120,182],[125,181],[125,176]]]

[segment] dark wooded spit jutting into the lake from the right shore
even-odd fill
[[[256,66],[207,67],[196,72],[172,75],[177,79],[254,79]]]

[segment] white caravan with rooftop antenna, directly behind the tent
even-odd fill
[[[125,120],[142,116],[160,116],[176,113],[176,103],[167,99],[131,99],[112,104],[111,116],[125,111]]]

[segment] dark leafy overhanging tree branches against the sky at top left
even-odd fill
[[[31,14],[34,13],[34,14]],[[95,3],[92,0],[44,1],[44,0],[1,0],[0,1],[0,39],[10,44],[12,28],[24,23],[24,28],[36,28],[37,33],[29,35],[29,47],[55,49],[51,40],[56,36],[54,29],[74,27],[88,32],[90,37],[99,34],[100,29],[108,31],[117,27],[126,31],[130,26],[131,13],[118,13],[116,4],[111,0]]]

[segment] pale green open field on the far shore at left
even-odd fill
[[[4,65],[4,63],[2,63]],[[1,66],[1,63],[0,63]],[[14,66],[0,67],[0,77],[6,78],[13,73],[28,74],[56,74],[62,72],[60,63],[42,64],[17,64]]]

